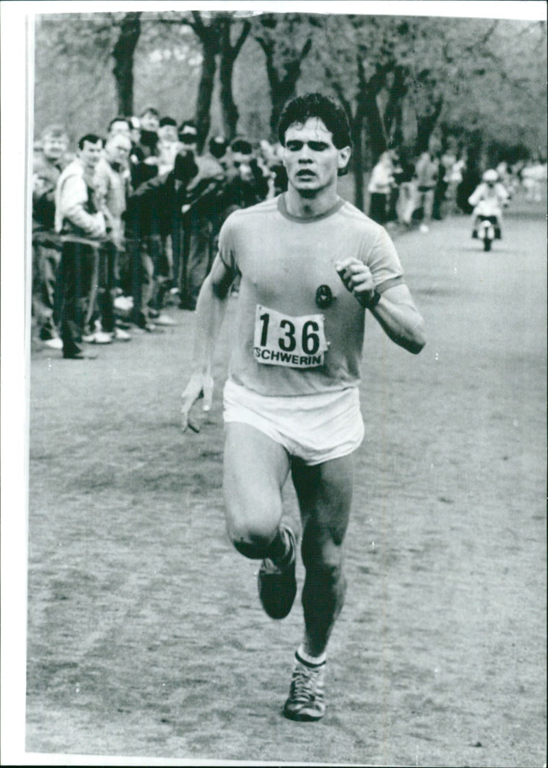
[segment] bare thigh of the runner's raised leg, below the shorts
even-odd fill
[[[282,515],[289,472],[285,449],[251,425],[228,422],[224,441],[224,502],[229,534],[271,538]]]

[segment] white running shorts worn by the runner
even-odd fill
[[[355,451],[364,439],[357,387],[317,395],[266,397],[228,379],[224,422],[249,424],[305,464],[322,464]]]

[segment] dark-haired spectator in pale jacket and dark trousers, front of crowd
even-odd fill
[[[55,188],[55,231],[61,234],[61,339],[63,357],[91,357],[81,349],[84,340],[109,343],[108,334],[93,328],[99,247],[105,240],[105,215],[95,195],[95,168],[103,141],[86,134],[78,141],[78,154],[59,177]],[[88,332],[86,338],[85,334]]]

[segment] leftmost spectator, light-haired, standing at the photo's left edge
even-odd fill
[[[61,241],[55,233],[55,187],[65,166],[68,136],[51,125],[42,134],[42,152],[32,168],[32,310],[38,338],[52,349],[62,349],[58,334],[57,275]]]

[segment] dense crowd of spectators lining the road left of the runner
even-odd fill
[[[61,126],[35,147],[32,317],[36,339],[68,359],[85,344],[128,341],[194,310],[231,212],[287,187],[280,147],[211,137],[148,108],[85,134]],[[237,289],[235,289],[237,290]]]

